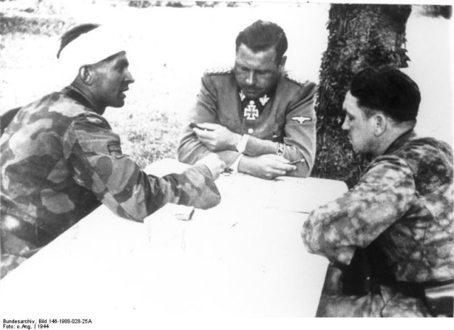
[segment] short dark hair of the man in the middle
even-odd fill
[[[276,50],[276,61],[279,62],[287,51],[287,36],[276,23],[256,21],[241,31],[236,37],[236,50],[244,44],[257,53],[272,47]]]

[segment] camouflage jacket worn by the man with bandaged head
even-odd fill
[[[0,150],[2,253],[45,245],[99,201],[134,221],[167,202],[208,208],[220,201],[205,165],[162,178],[145,174],[123,155],[106,119],[71,87],[24,106]],[[11,240],[22,242],[21,251],[9,251]]]

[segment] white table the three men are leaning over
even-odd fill
[[[148,168],[171,170],[182,167]],[[314,317],[328,260],[306,253],[301,227],[345,184],[247,175],[216,184],[221,204],[190,221],[172,204],[145,224],[99,207],[0,281],[1,317]]]

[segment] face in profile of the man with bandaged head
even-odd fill
[[[128,70],[129,62],[126,53],[118,53],[95,66],[93,82],[94,98],[99,104],[120,108],[125,104],[129,84],[134,82]]]

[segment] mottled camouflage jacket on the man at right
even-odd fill
[[[311,212],[302,237],[311,253],[348,264],[372,241],[398,281],[454,278],[453,153],[413,131],[375,158],[358,185]]]

